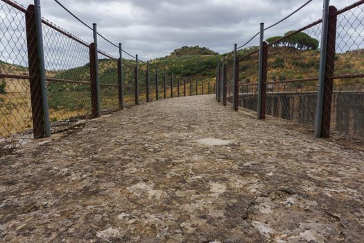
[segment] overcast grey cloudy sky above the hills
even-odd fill
[[[166,56],[182,46],[208,47],[219,53],[231,51],[234,43],[243,44],[266,26],[288,15],[306,0],[60,0],[71,12],[89,24],[96,22],[98,31],[112,42],[123,43],[123,49],[142,60]],[[322,16],[322,1],[313,0],[303,10],[279,26],[267,31],[266,37],[283,35]],[[331,0],[337,8],[355,0]],[[31,0],[19,0],[23,6]],[[86,42],[92,32],[79,24],[53,0],[41,0],[42,16],[62,26]],[[256,44],[254,40],[252,44]],[[115,47],[99,40],[99,47],[117,56]]]

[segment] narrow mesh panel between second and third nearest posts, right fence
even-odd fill
[[[238,58],[239,65],[239,106],[257,111],[259,51],[252,51]]]

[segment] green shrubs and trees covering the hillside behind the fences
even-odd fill
[[[286,33],[288,34],[288,33]],[[302,40],[310,40],[311,45],[302,44]],[[268,41],[272,42],[279,37],[269,38]],[[274,47],[270,47],[268,51],[268,81],[284,81],[291,78],[308,78],[318,76],[320,51],[318,50],[318,41],[301,35],[299,38],[288,38],[286,42],[279,42]],[[238,51],[238,56],[245,56],[247,53],[257,50],[258,47],[248,47]],[[165,71],[168,76],[180,76],[196,78],[201,81],[214,82],[216,63],[221,60],[221,55],[204,47],[182,47],[174,50],[171,55],[164,58],[156,58],[150,60],[150,85],[153,89],[155,85],[155,69],[159,72],[159,85],[162,85],[162,76]],[[227,55],[227,63],[232,62],[232,55]],[[134,86],[134,60],[123,60],[123,80],[125,84],[125,102],[132,103],[133,86]],[[258,54],[254,54],[248,58],[244,58],[240,62],[239,79],[244,83],[256,83],[258,78]],[[117,62],[109,59],[99,60],[99,76],[101,84],[117,84]],[[128,67],[130,66],[130,67]],[[6,62],[0,62],[0,70],[2,72],[13,74],[27,74],[28,69],[19,65],[12,65]],[[146,65],[141,63],[139,67],[139,87],[140,94],[144,94],[145,87],[145,70]],[[336,54],[336,74],[349,74],[364,72],[364,50],[348,51],[347,53]],[[73,81],[86,81],[89,82],[89,64],[82,67],[74,67],[67,70],[59,70],[53,72],[46,72],[46,76],[55,78],[64,78]],[[229,79],[232,79],[232,69],[228,69],[227,74]],[[2,96],[9,96],[12,91],[9,90],[10,86],[15,90],[29,92],[28,83],[24,81],[4,79],[1,82]],[[169,85],[168,78],[168,85]],[[313,81],[311,84],[315,88],[317,82]],[[352,78],[347,80],[336,80],[337,85],[363,85],[363,78]],[[306,83],[307,84],[307,83]],[[24,85],[19,89],[19,85]],[[297,85],[290,84],[290,85]],[[300,84],[298,84],[300,85]],[[129,86],[129,87],[128,87]],[[10,89],[11,90],[11,89]],[[16,91],[16,90],[15,90]],[[162,91],[162,90],[161,90]],[[64,119],[72,115],[80,115],[89,112],[91,109],[90,99],[90,85],[73,84],[73,83],[48,83],[48,99],[49,107],[51,109],[51,116],[54,119]],[[151,91],[153,92],[153,91]],[[28,94],[24,96],[29,99]],[[10,98],[9,98],[10,99]],[[145,98],[144,98],[145,99]],[[101,108],[110,109],[117,108],[117,87],[105,87],[101,85]],[[16,108],[17,106],[14,105]],[[60,112],[70,112],[66,115],[57,115]],[[63,114],[63,113],[62,113]]]

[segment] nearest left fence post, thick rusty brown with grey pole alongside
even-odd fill
[[[42,59],[42,42],[39,39],[39,25],[37,14],[35,12],[35,5],[29,5],[26,10],[26,40],[28,47],[28,67],[29,67],[29,82],[31,88],[31,107],[32,107],[32,118],[33,118],[33,135],[34,138],[49,137],[46,134],[46,122],[49,118],[46,118],[44,112],[48,112],[48,108],[44,109],[44,94],[45,90],[45,77],[44,77],[44,59]],[[37,11],[40,14],[40,10]],[[42,28],[41,28],[42,29]],[[42,60],[40,60],[42,59]],[[43,70],[43,72],[42,72]],[[42,78],[43,76],[43,78]],[[46,113],[48,114],[48,113]]]

